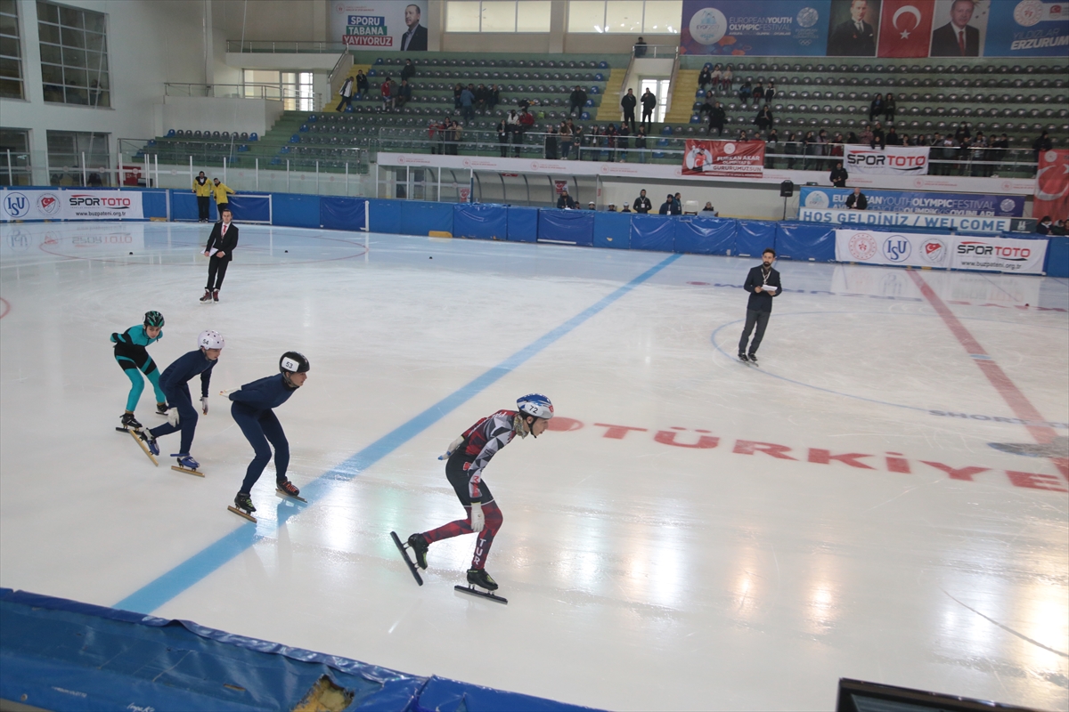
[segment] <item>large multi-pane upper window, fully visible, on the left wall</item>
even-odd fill
[[[37,2],[45,101],[110,107],[104,15]]]

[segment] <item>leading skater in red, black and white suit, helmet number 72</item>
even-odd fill
[[[435,541],[459,537],[462,534],[479,534],[475,545],[471,568],[468,569],[469,584],[495,590],[497,582],[485,571],[486,556],[494,542],[494,536],[501,527],[503,518],[490,488],[482,480],[482,471],[494,455],[512,442],[514,436],[538,438],[545,432],[553,417],[553,404],[538,393],[516,400],[517,410],[499,410],[490,417],[481,418],[464,431],[439,459],[446,462],[446,478],[456,491],[467,517],[449,522],[444,526],[408,537],[408,545],[416,554],[416,564],[427,568],[427,550]]]

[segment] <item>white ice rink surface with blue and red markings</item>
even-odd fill
[[[0,585],[600,708],[827,710],[850,677],[1069,709],[1065,280],[785,259],[757,368],[757,258],[243,225],[205,305],[208,227],[0,227]],[[227,339],[204,478],[114,431],[108,336],[148,310],[161,368]],[[269,466],[253,525],[218,393],[289,349],[310,502]],[[418,587],[389,532],[462,516],[437,456],[531,391],[555,429],[485,472],[509,604],[453,591],[470,536]]]

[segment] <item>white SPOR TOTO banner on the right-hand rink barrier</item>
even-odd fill
[[[835,231],[835,258],[868,265],[1040,274],[1047,240]]]

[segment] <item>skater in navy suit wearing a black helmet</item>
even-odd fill
[[[297,351],[286,351],[278,360],[278,375],[261,378],[259,381],[246,383],[236,391],[227,394],[234,405],[230,414],[242,429],[245,439],[252,445],[255,457],[245,471],[245,481],[234,497],[234,506],[245,512],[257,510],[252,506],[252,486],[260,479],[264,468],[270,461],[270,443],[275,446],[275,486],[280,494],[297,496],[300,490],[294,487],[285,477],[290,465],[290,442],[282,431],[274,408],[278,408],[308,379],[309,363],[304,354]],[[241,512],[238,512],[241,513]]]

